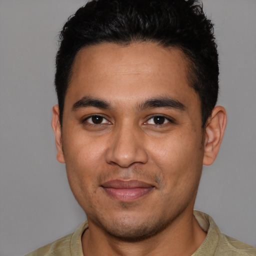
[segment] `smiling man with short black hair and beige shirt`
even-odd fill
[[[87,221],[28,255],[255,255],[193,211],[226,124],[193,0],[97,0],[64,25],[52,128]]]

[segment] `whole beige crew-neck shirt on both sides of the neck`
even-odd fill
[[[207,232],[203,243],[191,256],[255,256],[256,248],[220,232],[211,216],[194,210],[200,227]],[[44,245],[25,256],[83,256],[81,236],[88,228],[84,221],[72,234]]]

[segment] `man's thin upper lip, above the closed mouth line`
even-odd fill
[[[101,184],[103,187],[111,187],[111,188],[119,188],[119,189],[131,189],[131,188],[139,188],[139,187],[153,187],[153,185],[141,181],[141,180],[121,180],[121,179],[112,179],[109,181],[106,181]]]

